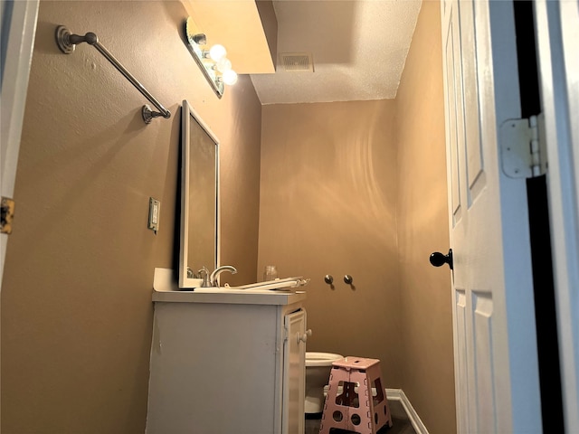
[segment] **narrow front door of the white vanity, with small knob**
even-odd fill
[[[306,311],[284,316],[287,338],[283,351],[283,434],[303,434],[306,394]]]

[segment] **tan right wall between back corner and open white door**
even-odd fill
[[[396,218],[403,390],[431,434],[456,431],[451,273],[428,260],[449,249],[443,101],[440,5],[426,1],[396,95]]]

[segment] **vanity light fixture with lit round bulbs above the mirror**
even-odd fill
[[[232,62],[227,59],[227,50],[220,44],[207,47],[206,35],[199,30],[191,17],[185,20],[185,40],[205,78],[221,98],[223,85],[233,85],[237,81],[237,73],[232,69]]]

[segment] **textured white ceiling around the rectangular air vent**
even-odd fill
[[[313,72],[252,74],[261,104],[394,99],[421,0],[276,0],[278,57],[308,53]]]

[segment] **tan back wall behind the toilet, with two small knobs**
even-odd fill
[[[401,387],[394,101],[262,113],[258,272],[311,278],[308,351],[379,358],[385,386]]]

